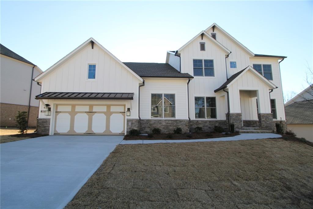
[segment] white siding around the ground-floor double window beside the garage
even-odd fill
[[[188,119],[188,79],[144,79],[145,86],[140,88],[141,119],[151,119],[151,94],[175,94],[175,119]]]

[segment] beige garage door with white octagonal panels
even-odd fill
[[[56,105],[54,134],[124,134],[125,105]]]

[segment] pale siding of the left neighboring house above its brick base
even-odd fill
[[[1,103],[28,106],[33,66],[1,55],[0,69]],[[35,67],[33,78],[39,74],[40,72]],[[40,86],[32,81],[31,106],[39,106],[39,101],[35,99],[38,94],[40,94]]]

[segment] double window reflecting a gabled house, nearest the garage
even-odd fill
[[[175,94],[151,94],[151,118],[175,118]]]

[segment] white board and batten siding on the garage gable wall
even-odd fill
[[[96,78],[88,79],[88,64],[96,65]],[[138,87],[140,80],[129,70],[118,63],[109,54],[94,44],[86,45],[80,51],[64,61],[51,73],[42,78],[41,93],[44,92],[129,92],[135,93],[133,100],[123,101],[131,108],[131,116],[127,118],[138,118]],[[62,103],[64,100],[45,100],[44,102]],[[72,100],[74,102],[74,100]],[[107,101],[101,100],[107,104]],[[76,102],[75,102],[76,103]],[[80,100],[80,103],[94,103],[92,100]],[[98,104],[99,102],[97,102]],[[110,103],[121,103],[118,100],[110,100]],[[50,104],[51,105],[51,104]],[[44,104],[39,107],[39,117],[45,118],[40,113]]]

